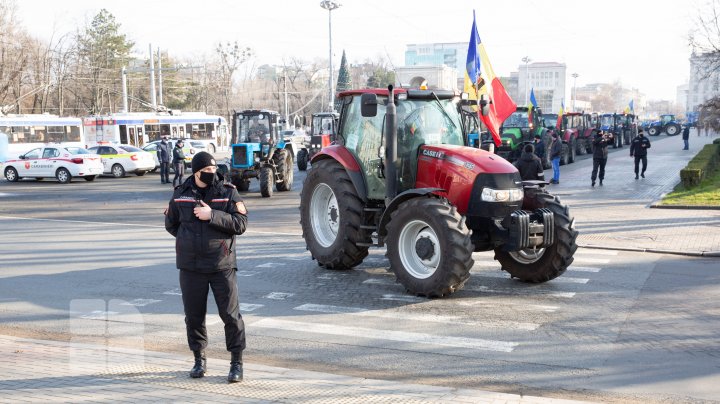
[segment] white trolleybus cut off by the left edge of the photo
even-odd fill
[[[8,158],[47,144],[85,147],[82,120],[57,115],[0,115],[0,136],[7,137]]]

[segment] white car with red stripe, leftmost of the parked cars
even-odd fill
[[[46,146],[32,149],[17,159],[5,162],[5,179],[10,182],[21,178],[35,178],[40,181],[55,177],[61,184],[83,177],[93,181],[102,174],[100,156],[81,147]]]

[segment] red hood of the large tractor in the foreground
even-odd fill
[[[415,186],[442,189],[443,196],[461,213],[467,212],[473,190],[480,184],[478,181],[488,177],[495,178],[490,183],[499,184],[499,188],[522,189],[515,166],[493,153],[455,145],[420,147]]]

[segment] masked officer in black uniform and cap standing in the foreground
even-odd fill
[[[247,211],[235,187],[217,173],[210,153],[193,157],[192,172],[175,188],[165,214],[165,228],[175,236],[188,345],[195,355],[190,377],[206,372],[205,315],[212,289],[231,353],[228,382],[238,382],[243,378],[245,323],[238,302],[235,235],[245,232]]]

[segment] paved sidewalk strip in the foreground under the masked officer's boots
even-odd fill
[[[0,336],[0,402],[579,403],[320,372],[244,366],[228,384],[227,359],[188,377],[191,356]]]

